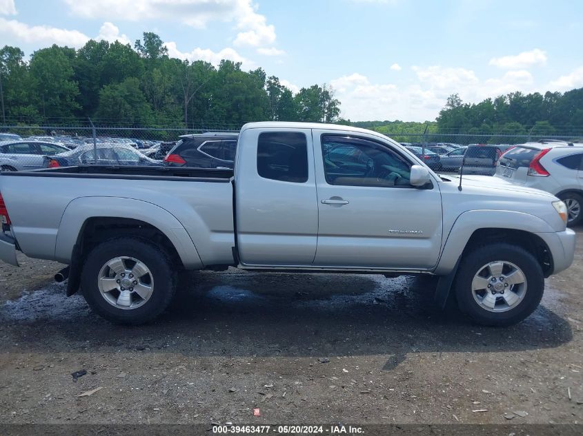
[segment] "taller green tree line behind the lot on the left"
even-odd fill
[[[0,117],[9,123],[239,128],[250,121],[338,120],[340,102],[327,85],[297,94],[261,68],[168,56],[159,36],[144,32],[132,47],[90,40],[79,50],[52,45],[24,59],[20,48],[0,50]]]

